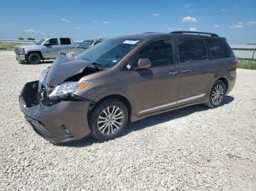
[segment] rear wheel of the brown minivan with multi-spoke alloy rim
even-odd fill
[[[225,93],[226,93],[225,84],[221,80],[217,80],[214,83],[213,87],[211,88],[209,101],[206,105],[211,108],[216,108],[218,106],[221,106]]]

